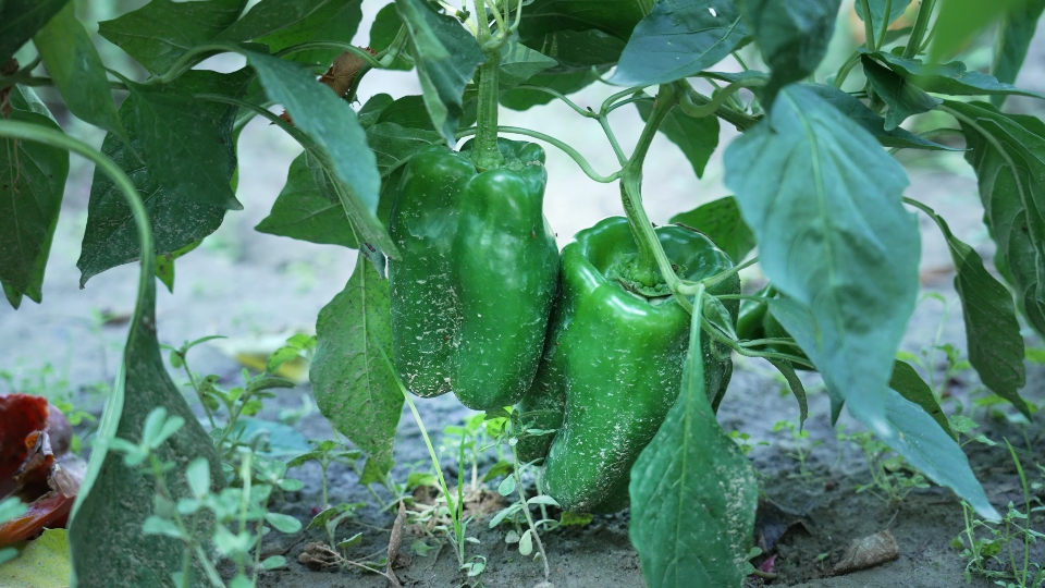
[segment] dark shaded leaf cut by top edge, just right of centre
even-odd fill
[[[534,0],[522,9],[519,36],[526,40],[558,30],[599,29],[623,41],[655,0]],[[545,53],[546,54],[546,53]]]

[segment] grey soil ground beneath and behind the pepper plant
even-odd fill
[[[384,2],[364,3],[367,14]],[[365,21],[366,22],[366,21]],[[361,37],[366,44],[366,37]],[[1019,82],[1021,87],[1045,90],[1045,39],[1042,35],[1031,48],[1028,65]],[[235,63],[217,65],[234,68]],[[367,94],[385,91],[393,96],[418,94],[411,74],[376,72],[367,78]],[[590,88],[575,99],[581,106],[598,107],[611,93]],[[45,95],[45,98],[47,96]],[[1029,100],[1013,100],[1010,106],[1025,112],[1038,112]],[[627,145],[638,136],[641,121],[635,112],[624,112],[614,120],[618,137]],[[59,113],[61,114],[61,113]],[[534,123],[533,121],[537,121]],[[100,145],[101,136],[85,130],[65,115],[61,122],[76,136]],[[598,125],[585,125],[565,106],[539,107],[526,113],[506,112],[502,124],[527,124],[539,130],[565,135],[580,145],[593,167],[611,171],[615,161],[604,148]],[[590,127],[589,127],[590,126]],[[736,136],[724,128],[724,145]],[[161,291],[158,302],[158,322],[161,342],[177,345],[185,340],[209,334],[224,334],[232,346],[274,347],[286,333],[314,330],[319,309],[336,294],[352,271],[355,252],[312,245],[287,238],[262,235],[253,226],[263,218],[285,180],[291,160],[299,148],[278,130],[258,121],[251,123],[241,140],[241,174],[237,196],[246,210],[230,213],[222,228],[204,246],[177,261],[176,287],[173,294]],[[727,194],[721,183],[721,154],[714,156],[703,179],[697,180],[681,154],[659,137],[648,162],[644,185],[650,217],[663,223],[673,215]],[[980,218],[982,208],[976,196],[971,169],[959,155],[937,155],[932,163],[926,159],[908,157],[912,185],[908,194],[934,207],[948,219],[955,234],[973,245],[984,259],[991,259],[993,245]],[[617,188],[591,183],[564,155],[550,150],[548,168],[551,182],[545,213],[558,231],[561,243],[566,243],[577,230],[594,223],[607,215],[620,213]],[[0,371],[10,380],[0,380],[0,392],[22,389],[30,392],[67,396],[78,406],[98,413],[104,389],[115,373],[120,348],[126,336],[126,317],[134,297],[137,267],[124,266],[93,278],[86,290],[77,287],[75,261],[86,222],[91,169],[74,159],[72,181],[65,195],[62,217],[54,237],[51,259],[45,282],[45,304],[28,301],[19,311],[0,306],[0,341],[14,342],[0,355]],[[926,294],[938,294],[946,301],[926,298],[911,320],[903,350],[920,354],[934,341],[951,343],[966,348],[960,305],[951,287],[952,273],[946,246],[926,219],[922,218],[923,254],[922,283]],[[749,286],[761,277],[746,272]],[[1042,342],[1028,332],[1029,344],[1041,347]],[[194,370],[216,373],[222,382],[238,382],[242,365],[228,351],[216,344],[205,344],[189,355]],[[944,357],[937,354],[933,365],[938,379],[944,370]],[[50,366],[47,367],[47,366]],[[1029,402],[1045,405],[1045,367],[1029,365],[1024,395]],[[924,373],[923,373],[924,375]],[[184,380],[174,373],[177,382]],[[808,382],[812,390],[815,378]],[[975,408],[970,399],[982,397],[976,392],[979,381],[971,370],[962,371],[948,382],[949,399],[945,408],[954,413],[964,407],[982,427],[976,432],[1003,443],[1008,439],[1020,452],[1020,460],[1032,481],[1041,481],[1035,464],[1045,465],[1045,412],[1040,412],[1032,424],[1011,421],[1011,409]],[[260,418],[275,419],[281,409],[302,404],[308,394],[307,383],[296,391],[284,393],[267,405]],[[460,424],[471,413],[453,396],[418,400],[418,408],[437,443],[443,427]],[[970,408],[974,412],[970,413]],[[755,444],[750,457],[761,473],[764,491],[760,509],[760,530],[767,541],[766,555],[774,555],[774,579],[751,578],[750,586],[790,587],[925,587],[991,586],[982,577],[967,581],[963,576],[967,562],[951,540],[964,528],[962,507],[948,490],[932,486],[917,489],[898,505],[884,502],[871,492],[859,492],[858,487],[870,481],[862,452],[850,442],[839,443],[836,429],[827,420],[828,403],[823,392],[810,397],[810,418],[806,430],[812,448],[803,470],[788,454],[795,446],[789,436],[773,432],[778,420],[796,420],[798,411],[789,396],[780,394],[780,383],[773,377],[767,364],[738,362],[729,391],[718,413],[723,427],[749,433]],[[843,416],[848,431],[859,427]],[[319,414],[303,418],[296,428],[309,439],[329,438],[333,433]],[[758,445],[765,442],[765,445]],[[1004,443],[987,446],[976,442],[966,445],[970,462],[983,482],[993,504],[1005,511],[1009,502],[1022,506],[1022,490],[1015,465]],[[405,479],[413,466],[428,467],[428,454],[419,429],[408,412],[404,412],[396,440],[396,479]],[[444,469],[456,476],[453,456],[444,456]],[[480,464],[489,466],[492,462]],[[802,471],[806,474],[802,475]],[[315,464],[292,470],[291,475],[305,482],[305,490],[288,493],[276,505],[282,512],[308,522],[320,504],[320,471]],[[379,512],[373,498],[357,483],[356,474],[343,466],[330,469],[331,503],[367,502],[357,516],[339,530],[345,536],[362,532],[359,546],[347,552],[349,559],[380,559],[389,542],[393,514]],[[1045,497],[1038,497],[1045,500]],[[389,500],[386,494],[382,500]],[[481,579],[489,587],[538,586],[544,580],[542,565],[520,555],[516,546],[505,542],[506,528],[489,529],[489,514],[478,517],[469,527],[469,535],[478,544],[469,544],[469,555],[487,559]],[[1045,530],[1040,513],[1033,519],[1038,530]],[[595,517],[591,524],[567,527],[542,536],[548,552],[551,575],[548,578],[557,588],[566,587],[641,587],[643,580],[639,559],[628,541],[627,512]],[[786,529],[780,536],[780,532]],[[899,556],[882,565],[831,576],[829,569],[839,561],[843,551],[858,540],[888,529],[896,538]],[[456,586],[466,578],[450,546],[432,550],[427,556],[411,553],[410,544],[420,537],[410,535],[403,540],[402,564],[395,569],[404,586]],[[302,532],[295,537],[273,539],[266,550],[270,554],[285,553],[288,565],[262,576],[261,586],[293,587],[384,587],[388,580],[377,574],[358,569],[335,568],[328,572],[310,571],[297,562],[306,544],[322,541],[321,531]],[[428,538],[429,546],[438,543]],[[1045,564],[1045,542],[1032,549],[1031,561]],[[545,585],[546,586],[546,585]]]

